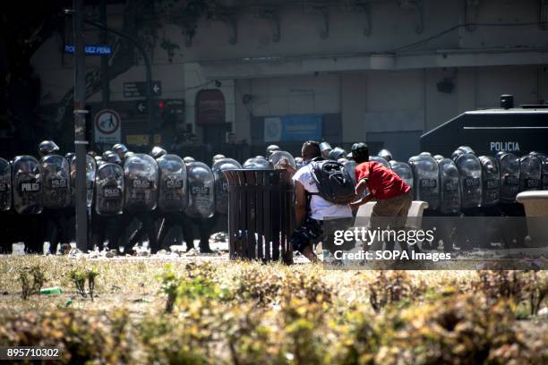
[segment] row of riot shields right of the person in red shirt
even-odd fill
[[[413,187],[415,199],[428,202],[441,214],[461,209],[490,208],[499,203],[514,203],[520,191],[548,188],[548,158],[542,154],[516,157],[501,153],[497,157],[463,153],[453,159],[435,160],[429,156],[409,158],[407,164],[394,163],[392,169]]]

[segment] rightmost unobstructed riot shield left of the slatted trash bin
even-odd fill
[[[265,160],[266,161],[266,160]],[[188,207],[184,210],[187,216],[209,218],[215,213],[215,178],[210,166],[201,162],[191,162],[188,172]]]

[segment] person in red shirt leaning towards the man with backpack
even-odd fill
[[[369,193],[350,204],[353,210],[371,199],[377,199],[372,209],[372,228],[398,230],[406,225],[407,212],[411,207],[413,197],[411,188],[389,168],[378,162],[369,162],[369,149],[365,143],[355,143],[352,146],[352,157],[355,166],[355,192],[361,196],[365,189]]]

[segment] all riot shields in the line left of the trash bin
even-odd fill
[[[115,216],[124,211],[158,209],[184,211],[192,217],[227,214],[227,182],[223,171],[242,168],[231,158],[212,168],[201,162],[184,164],[176,155],[154,160],[135,154],[123,166],[86,161],[86,198],[98,215]],[[75,202],[75,157],[69,162],[58,155],[41,160],[15,157],[10,163],[0,158],[0,211],[13,209],[20,215],[37,215],[44,208],[61,209]]]

